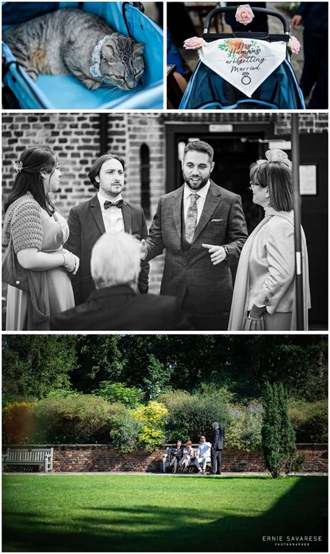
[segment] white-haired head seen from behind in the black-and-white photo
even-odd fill
[[[95,243],[91,274],[96,288],[136,286],[141,266],[139,240],[127,233],[104,233]]]

